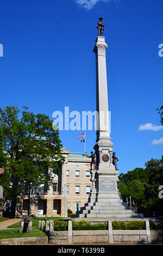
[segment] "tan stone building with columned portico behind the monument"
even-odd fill
[[[31,215],[36,217],[67,217],[67,209],[75,214],[87,202],[91,191],[91,159],[83,153],[70,153],[70,150],[61,149],[65,162],[60,168],[60,175],[52,174],[55,186],[47,189],[40,184],[40,192],[32,193],[31,206],[29,197],[16,205],[15,217]],[[90,154],[87,154],[90,155]]]

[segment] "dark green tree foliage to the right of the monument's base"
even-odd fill
[[[139,209],[146,216],[162,216],[163,200],[158,195],[159,186],[163,185],[163,156],[160,160],[147,161],[145,167],[121,173],[118,189],[124,202],[131,196],[135,203],[133,209]]]

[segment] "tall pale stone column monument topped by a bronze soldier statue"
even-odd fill
[[[117,189],[117,174],[115,153],[112,158],[110,141],[110,124],[108,108],[108,88],[106,78],[106,48],[108,45],[103,36],[104,23],[99,18],[98,36],[93,52],[96,53],[96,102],[97,102],[97,139],[94,146],[96,153],[96,166],[91,167],[92,190],[88,203],[77,212],[79,218],[117,218],[117,217],[143,217],[131,210],[123,203]],[[113,164],[114,163],[114,164]],[[92,164],[93,166],[93,164]]]

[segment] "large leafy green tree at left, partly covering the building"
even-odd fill
[[[39,184],[52,185],[53,169],[59,174],[60,164],[64,162],[59,132],[53,130],[53,121],[45,114],[29,112],[26,106],[22,108],[21,118],[18,114],[17,107],[0,108],[3,148],[7,153],[5,173],[8,176],[8,184],[4,184],[0,177],[0,185],[3,184],[9,198],[16,203],[23,194],[29,194],[30,182],[34,190]]]

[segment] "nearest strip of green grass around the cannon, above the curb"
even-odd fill
[[[33,228],[30,233],[19,233],[19,228],[0,230],[0,239],[15,238],[15,237],[29,237],[29,236],[47,236],[38,228]]]

